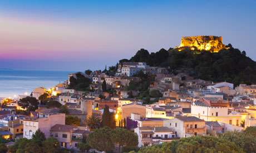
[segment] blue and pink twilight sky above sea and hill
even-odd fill
[[[256,1],[3,1],[0,68],[104,69],[144,48],[223,37],[256,60]]]

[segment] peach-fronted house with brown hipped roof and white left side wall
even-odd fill
[[[174,131],[176,137],[206,135],[205,121],[195,116],[176,116],[174,119],[164,120],[164,126]]]

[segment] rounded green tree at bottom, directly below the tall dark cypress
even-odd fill
[[[104,126],[90,133],[86,141],[93,149],[107,152],[114,149],[114,142],[111,139],[111,135],[112,130],[110,127]]]

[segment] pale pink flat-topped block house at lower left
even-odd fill
[[[55,124],[65,125],[65,114],[60,113],[38,113],[36,117],[26,116],[23,119],[23,138],[31,139],[32,134],[40,129],[46,138],[50,137],[50,129]]]

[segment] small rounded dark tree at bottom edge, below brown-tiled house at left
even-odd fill
[[[48,153],[59,153],[61,152],[61,146],[57,139],[50,137],[43,141],[43,151]]]

